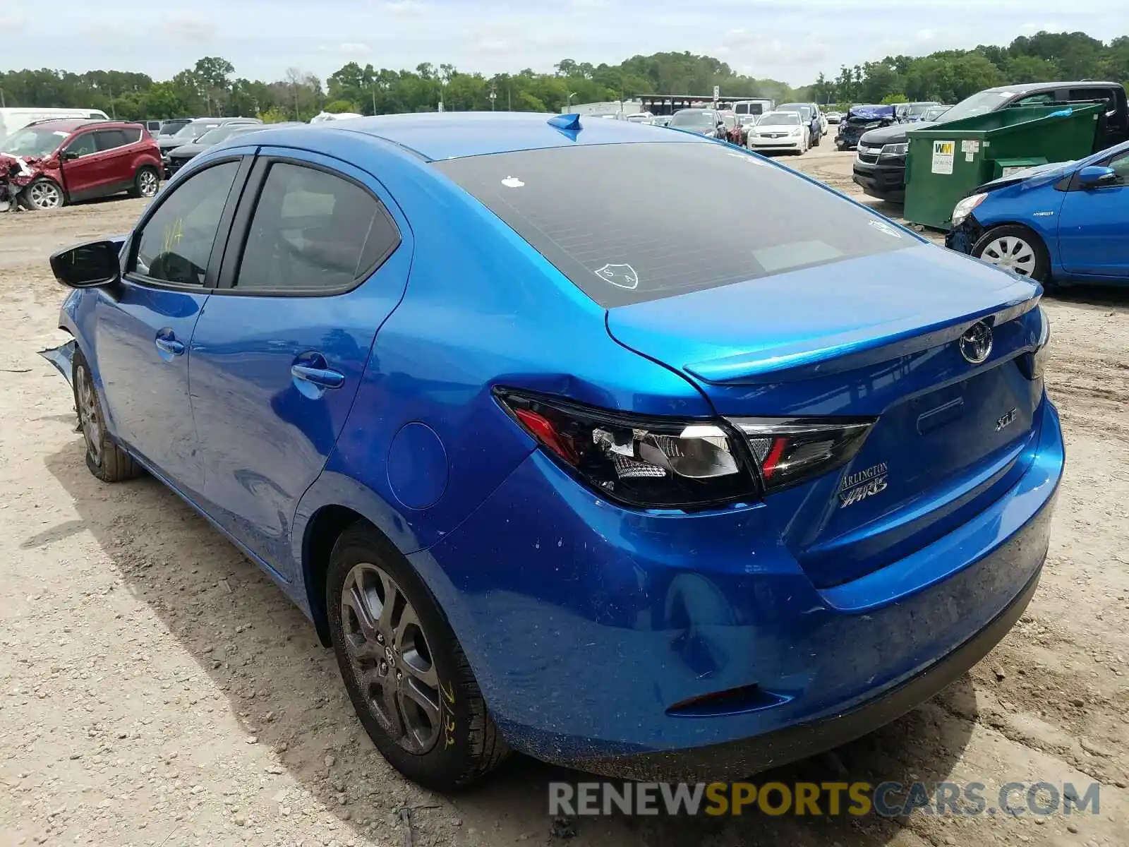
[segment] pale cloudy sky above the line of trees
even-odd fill
[[[15,7],[12,7],[15,3]],[[350,60],[414,68],[450,62],[493,73],[549,71],[562,58],[615,63],[689,50],[793,85],[891,53],[1007,44],[1039,29],[1109,41],[1129,2],[1079,0],[7,0],[0,69],[115,68],[161,79],[201,55],[239,76],[287,68],[323,79]]]

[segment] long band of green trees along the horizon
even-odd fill
[[[754,56],[755,58],[755,56]],[[771,97],[820,103],[939,101],[955,103],[982,88],[1008,82],[1057,79],[1129,80],[1129,36],[1103,43],[1085,33],[1021,36],[1008,46],[948,50],[927,56],[887,56],[838,76],[821,73],[809,86],[793,88],[773,79],[736,73],[727,63],[689,52],[636,55],[619,64],[562,59],[551,73],[457,70],[423,62],[414,70],[376,69],[348,62],[325,80],[298,68],[265,82],[240,77],[220,56],[204,56],[172,79],[145,73],[97,70],[12,70],[0,73],[7,106],[100,108],[126,120],[181,115],[259,115],[266,121],[309,120],[329,112],[431,112],[510,110],[560,112],[570,104],[636,97],[641,94],[708,95],[718,86],[727,96]]]

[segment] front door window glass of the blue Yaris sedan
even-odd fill
[[[130,270],[161,282],[202,286],[238,169],[238,163],[225,161],[177,185],[146,221]]]

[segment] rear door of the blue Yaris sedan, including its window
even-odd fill
[[[298,501],[403,295],[411,244],[383,186],[329,157],[264,149],[244,197],[245,246],[228,250],[192,337],[203,505],[289,579]]]

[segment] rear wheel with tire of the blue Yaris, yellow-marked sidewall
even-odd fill
[[[509,752],[430,591],[371,526],[345,530],[326,573],[330,636],[380,754],[435,791],[483,778]]]

